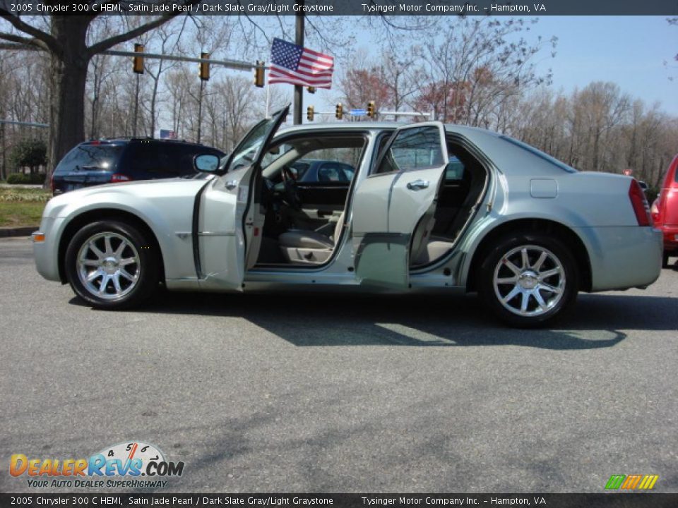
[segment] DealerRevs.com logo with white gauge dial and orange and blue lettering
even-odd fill
[[[29,487],[159,488],[165,478],[182,476],[184,462],[170,462],[160,449],[132,441],[106,447],[89,459],[29,458],[13,454],[9,473],[26,477]]]

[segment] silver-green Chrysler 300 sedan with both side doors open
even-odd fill
[[[103,309],[141,303],[161,281],[477,291],[521,327],[560,315],[578,291],[660,274],[662,237],[628,176],[578,172],[507,136],[438,122],[278,132],[287,109],[224,159],[198,155],[195,178],[53,198],[33,238],[37,270]],[[322,161],[323,178],[297,180],[302,159]]]

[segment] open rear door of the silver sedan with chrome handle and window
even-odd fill
[[[433,217],[447,163],[442,123],[393,133],[353,198],[355,271],[362,284],[409,286],[412,236]]]

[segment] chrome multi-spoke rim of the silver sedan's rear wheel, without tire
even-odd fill
[[[494,294],[501,306],[520,316],[539,316],[558,305],[565,291],[561,261],[547,248],[519,246],[494,268]]]

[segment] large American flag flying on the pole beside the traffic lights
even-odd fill
[[[291,42],[273,39],[268,83],[292,83],[316,88],[332,87],[334,57]]]

